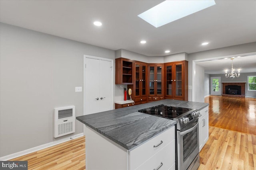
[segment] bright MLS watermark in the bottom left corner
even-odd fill
[[[0,161],[1,170],[28,170],[28,161]]]

